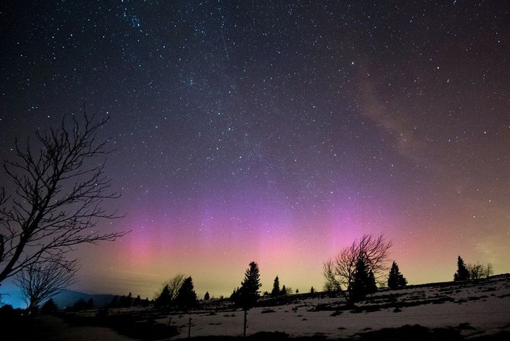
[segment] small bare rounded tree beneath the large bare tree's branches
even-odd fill
[[[65,263],[68,265],[65,268],[60,262],[37,263],[16,274],[15,283],[21,289],[29,312],[71,286],[78,270],[78,262]]]

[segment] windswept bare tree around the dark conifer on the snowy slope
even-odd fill
[[[376,279],[381,279],[387,270],[385,263],[391,241],[386,241],[383,234],[373,236],[365,234],[360,239],[353,241],[345,247],[333,259],[324,263],[324,288],[330,288],[341,292],[349,304],[353,304],[352,286],[355,278],[356,264],[360,259],[367,267],[367,272],[373,272]]]

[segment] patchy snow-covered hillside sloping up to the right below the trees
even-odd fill
[[[253,308],[248,312],[247,333],[282,331],[292,336],[321,334],[328,338],[346,338],[405,324],[420,324],[431,329],[457,327],[466,337],[510,331],[510,276],[492,277],[477,283],[382,290],[358,306],[358,311],[342,310],[340,298],[310,298],[283,306]],[[240,310],[201,311],[168,317],[171,317],[171,325],[180,331],[174,339],[187,338],[190,317],[191,336],[243,333],[243,311]],[[157,322],[166,324],[168,317]]]

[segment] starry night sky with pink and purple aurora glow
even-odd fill
[[[381,232],[410,283],[509,272],[509,28],[508,1],[2,1],[0,157],[111,117],[102,228],[132,232],[76,252],[87,292],[229,295],[249,261],[305,292]]]

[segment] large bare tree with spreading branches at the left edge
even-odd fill
[[[100,233],[102,218],[119,218],[102,207],[118,198],[103,174],[109,153],[97,142],[98,130],[107,119],[83,114],[62,119],[58,128],[36,132],[37,148],[30,139],[15,158],[4,161],[9,195],[0,191],[0,283],[21,270],[57,263],[70,269],[67,252],[82,243],[114,241],[120,233]]]

